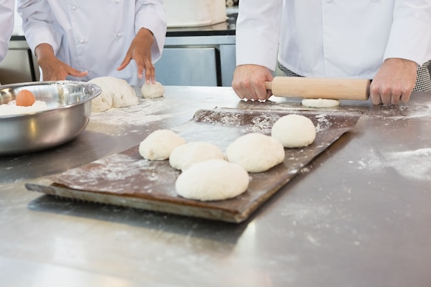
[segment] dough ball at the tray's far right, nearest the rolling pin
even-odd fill
[[[290,114],[282,116],[274,123],[271,136],[284,147],[306,147],[315,140],[316,129],[306,116]]]

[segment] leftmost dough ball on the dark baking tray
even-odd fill
[[[139,144],[139,153],[146,160],[167,160],[171,152],[186,140],[169,129],[153,131]]]

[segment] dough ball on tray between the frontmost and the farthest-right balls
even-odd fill
[[[251,133],[231,142],[226,149],[226,157],[246,171],[262,172],[284,160],[284,147],[271,136]]]

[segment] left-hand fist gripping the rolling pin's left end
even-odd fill
[[[241,99],[266,100],[272,92],[266,91],[265,82],[273,81],[273,78],[267,67],[239,65],[233,73],[232,87]]]

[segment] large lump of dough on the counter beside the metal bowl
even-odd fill
[[[102,92],[92,100],[92,111],[106,111],[112,107],[129,107],[138,103],[134,88],[121,78],[103,76],[93,78],[88,83],[101,87]]]

